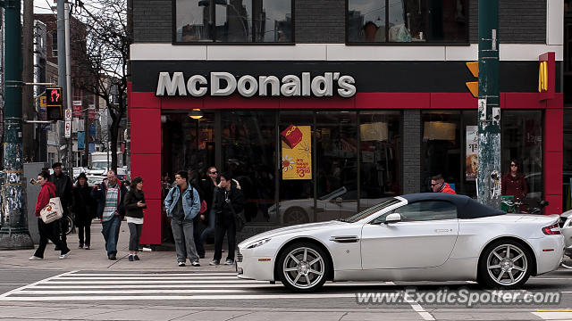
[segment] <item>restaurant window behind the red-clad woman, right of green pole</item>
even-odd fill
[[[524,202],[537,206],[543,199],[543,112],[501,111],[501,170],[509,173],[516,160],[524,176],[527,193]]]

